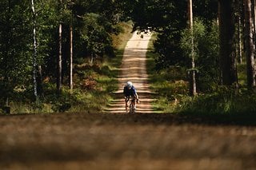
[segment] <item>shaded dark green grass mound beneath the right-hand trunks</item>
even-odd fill
[[[221,87],[215,93],[183,98],[177,112],[186,113],[254,113],[255,94],[236,93],[235,89]]]

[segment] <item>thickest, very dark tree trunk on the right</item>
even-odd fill
[[[222,85],[237,84],[234,0],[218,0]]]

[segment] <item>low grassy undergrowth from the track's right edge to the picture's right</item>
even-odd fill
[[[154,38],[153,38],[154,40]],[[190,115],[244,115],[256,112],[256,93],[246,89],[246,66],[238,65],[239,89],[230,86],[212,85],[211,91],[199,92],[190,97],[186,69],[172,66],[167,69],[155,68],[153,42],[147,52],[150,88],[157,93],[154,107],[162,113]],[[238,116],[240,117],[240,116]]]

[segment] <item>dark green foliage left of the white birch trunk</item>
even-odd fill
[[[0,84],[3,89],[26,83],[30,73],[31,29],[27,2],[0,2]],[[2,90],[1,90],[2,91]],[[1,93],[2,97],[5,94]]]

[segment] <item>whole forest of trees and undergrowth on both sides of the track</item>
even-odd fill
[[[163,113],[254,113],[255,2],[2,0],[0,113],[101,112],[134,30]]]

